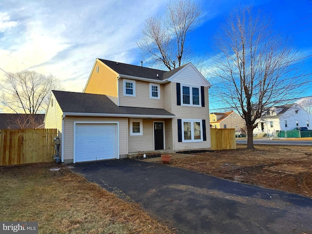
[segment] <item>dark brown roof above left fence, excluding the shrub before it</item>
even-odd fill
[[[26,125],[29,124],[30,114],[0,114],[0,129],[20,129],[20,125],[17,124],[17,121],[25,121]],[[37,127],[40,127],[43,124],[44,114],[35,114],[32,115],[34,117],[34,122],[38,123]],[[36,124],[37,125],[37,124]]]

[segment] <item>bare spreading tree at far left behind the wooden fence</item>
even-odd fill
[[[59,79],[53,75],[28,70],[7,73],[1,84],[1,104],[14,113],[42,114],[52,89],[61,89]]]

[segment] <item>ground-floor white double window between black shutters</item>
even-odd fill
[[[203,141],[202,121],[182,119],[182,142]]]

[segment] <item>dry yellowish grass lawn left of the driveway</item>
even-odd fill
[[[61,168],[52,172],[52,167]],[[39,234],[170,234],[135,203],[53,163],[0,167],[1,221],[38,221]]]

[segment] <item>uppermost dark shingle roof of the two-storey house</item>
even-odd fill
[[[111,69],[116,71],[120,75],[126,75],[126,76],[133,76],[133,77],[140,77],[140,78],[150,78],[155,80],[164,80],[167,78],[170,78],[173,76],[176,72],[181,70],[185,65],[180,66],[176,69],[173,69],[171,71],[163,71],[163,70],[157,70],[153,68],[148,67],[141,67],[116,61],[110,61],[105,59],[99,59],[101,62],[109,66]],[[158,74],[158,77],[157,77]]]

